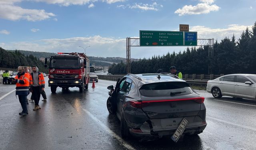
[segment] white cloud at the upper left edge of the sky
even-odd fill
[[[0,5],[0,18],[7,20],[40,21],[49,19],[51,16],[55,14],[45,12],[45,10],[23,9],[9,4]]]

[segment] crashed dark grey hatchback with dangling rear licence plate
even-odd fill
[[[122,138],[169,136],[177,142],[182,134],[200,134],[206,128],[204,97],[177,76],[127,74],[113,87],[108,86],[114,92],[107,107],[120,120]]]

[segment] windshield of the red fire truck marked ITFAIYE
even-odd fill
[[[79,59],[52,59],[50,68],[79,68]]]

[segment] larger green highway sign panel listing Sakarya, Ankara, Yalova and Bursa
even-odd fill
[[[183,46],[183,32],[140,30],[140,46]]]

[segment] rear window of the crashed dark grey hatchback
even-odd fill
[[[158,82],[143,85],[140,93],[148,97],[164,97],[191,94],[193,91],[186,82]]]

